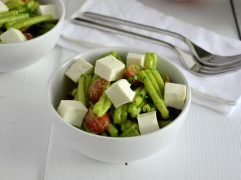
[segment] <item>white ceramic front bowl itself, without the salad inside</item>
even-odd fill
[[[167,74],[177,83],[187,85],[185,106],[180,115],[169,125],[146,135],[114,138],[94,135],[65,123],[56,112],[60,100],[66,97],[67,93],[73,87],[71,80],[64,75],[65,71],[75,58],[82,57],[93,63],[100,55],[111,50],[115,50],[121,55],[126,55],[128,52],[144,53],[144,51],[130,48],[97,49],[71,58],[59,67],[53,73],[48,83],[48,101],[52,115],[51,118],[53,117],[53,128],[55,132],[61,135],[62,139],[66,140],[67,145],[90,158],[112,163],[136,161],[162,150],[177,136],[189,110],[191,92],[183,73],[171,62],[159,60],[158,69],[160,72]]]

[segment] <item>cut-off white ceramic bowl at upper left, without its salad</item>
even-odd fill
[[[64,3],[62,0],[40,0],[40,2],[58,6],[58,23],[47,33],[32,40],[14,44],[0,44],[0,72],[11,72],[34,64],[57,43],[65,16]]]

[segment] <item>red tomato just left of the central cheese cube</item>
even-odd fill
[[[89,88],[89,98],[94,103],[99,101],[100,97],[102,96],[103,92],[107,88],[109,82],[105,79],[98,78],[96,79]]]

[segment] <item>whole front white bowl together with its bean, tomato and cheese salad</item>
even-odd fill
[[[54,131],[107,162],[140,160],[166,147],[186,119],[190,93],[170,61],[119,47],[69,59],[48,85]]]

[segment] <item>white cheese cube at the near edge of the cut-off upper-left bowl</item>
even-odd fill
[[[14,28],[11,28],[6,32],[2,33],[0,35],[0,39],[5,44],[18,43],[18,42],[23,42],[27,40],[24,34],[20,30],[14,29]]]

